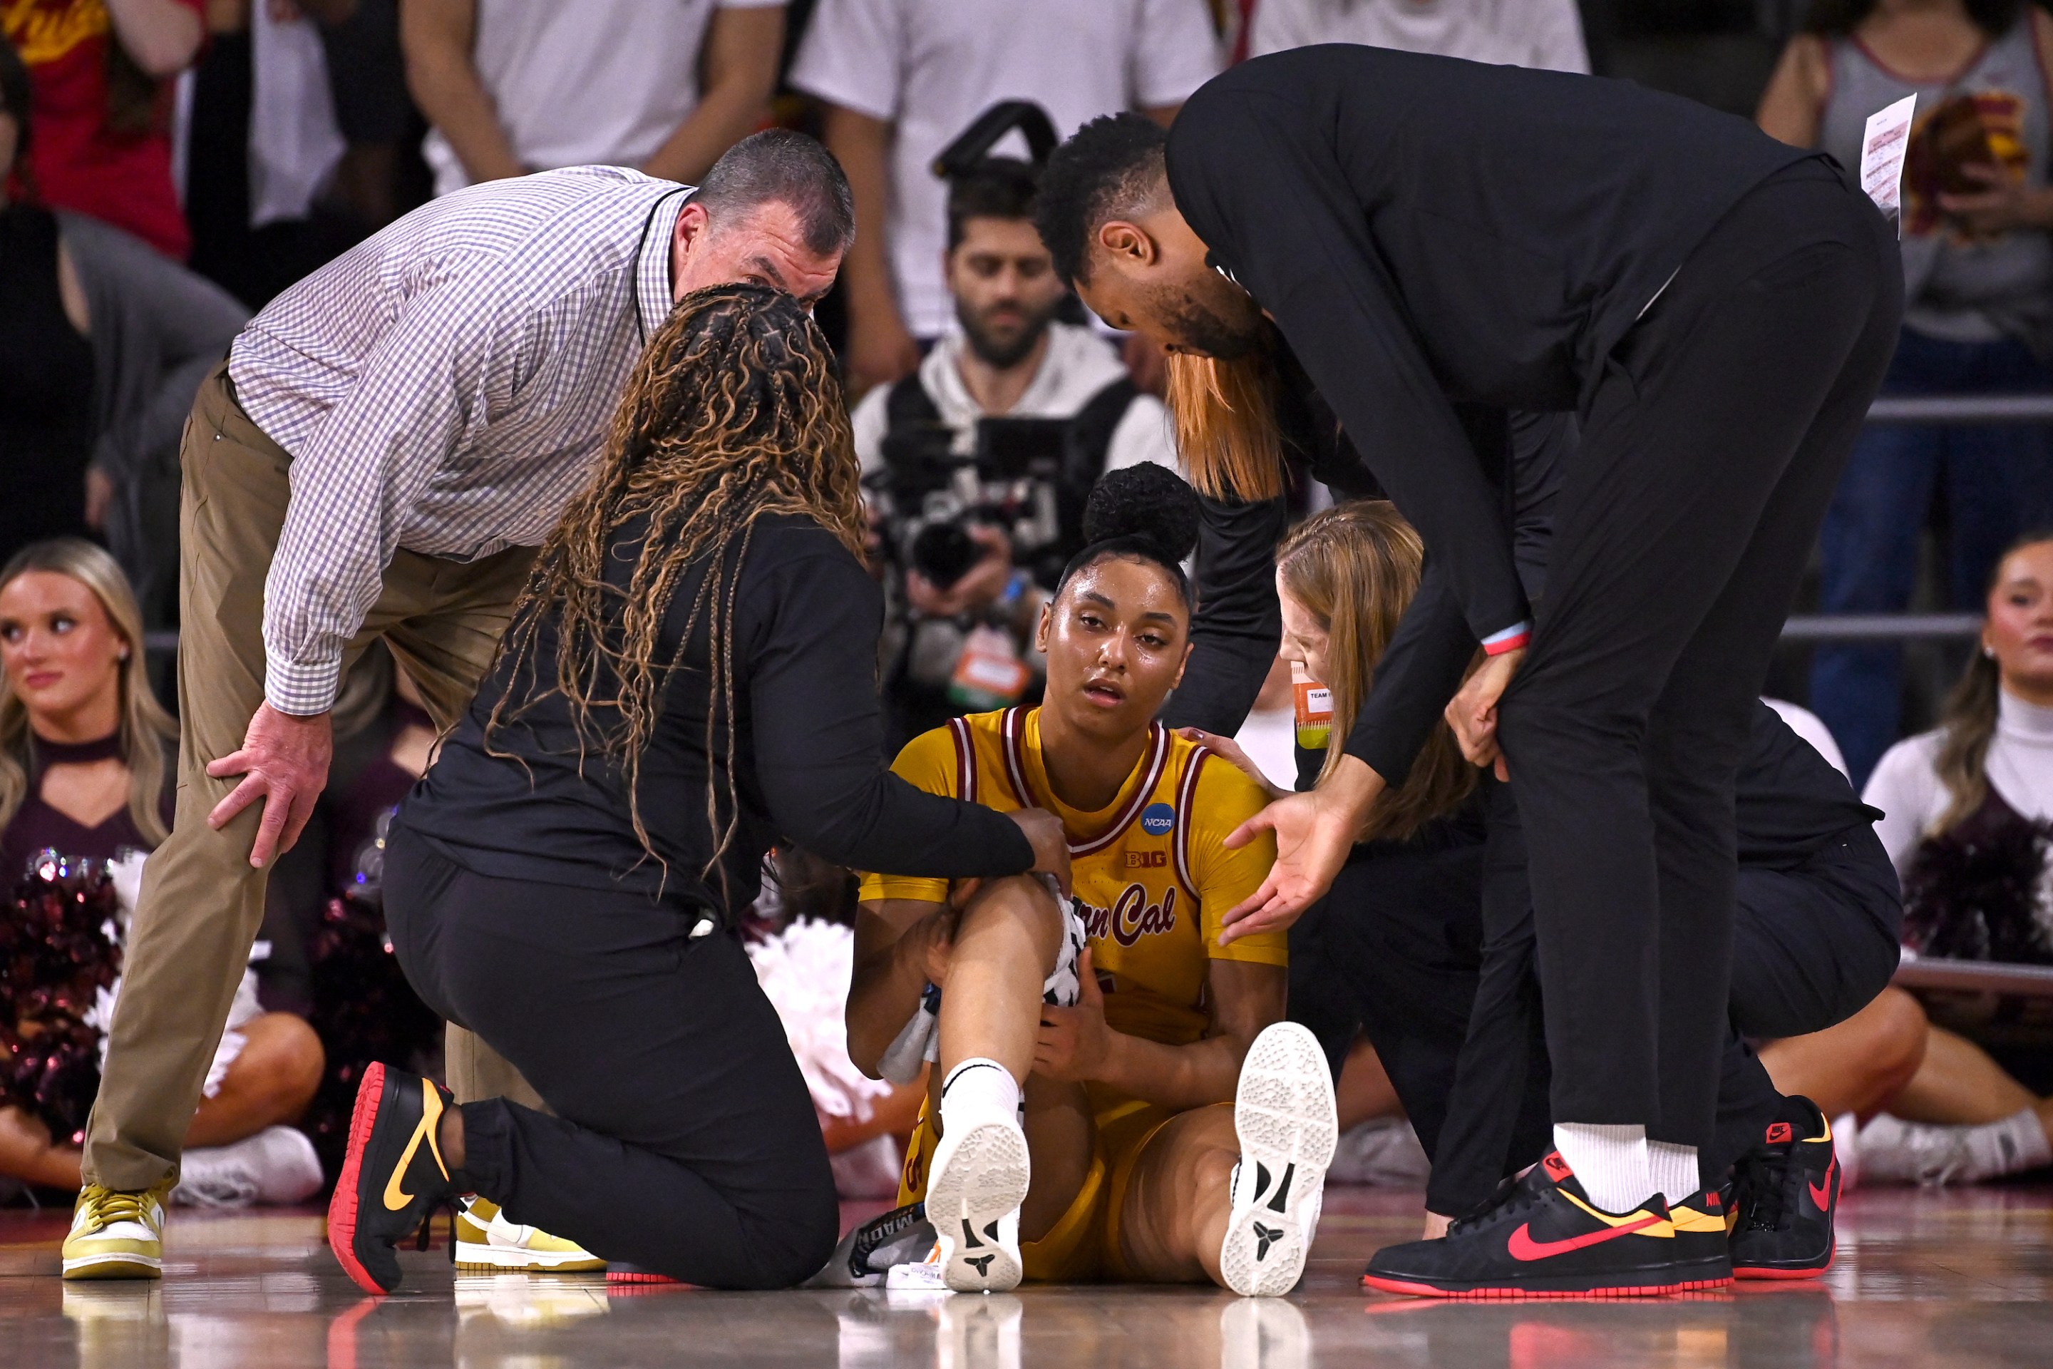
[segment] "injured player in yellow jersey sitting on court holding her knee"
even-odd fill
[[[1154,722],[1191,649],[1197,499],[1160,466],[1119,470],[1084,534],[1041,614],[1045,702],[955,718],[895,764],[930,792],[1061,817],[1074,899],[1039,876],[864,878],[848,1051],[891,1080],[934,1061],[932,1092],[905,1207],[856,1227],[825,1281],[1287,1293],[1304,1273],[1332,1080],[1281,1020],[1283,936],[1217,942],[1275,858],[1267,833],[1226,846],[1267,796]]]

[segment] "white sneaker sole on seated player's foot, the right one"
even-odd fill
[[[1318,1036],[1295,1022],[1277,1022],[1254,1039],[1240,1065],[1234,1131],[1240,1164],[1219,1273],[1242,1297],[1289,1293],[1304,1275],[1326,1166],[1341,1139],[1332,1073]]]

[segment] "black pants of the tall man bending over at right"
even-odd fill
[[[1883,218],[1803,162],[1710,230],[1587,404],[1499,725],[1562,1123],[1712,1141],[1733,776],[1901,314]]]

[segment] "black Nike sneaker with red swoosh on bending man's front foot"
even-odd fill
[[[1720,1268],[1679,1258],[1659,1192],[1601,1211],[1554,1151],[1443,1238],[1378,1250],[1361,1283],[1415,1297],[1653,1297],[1718,1287]]]

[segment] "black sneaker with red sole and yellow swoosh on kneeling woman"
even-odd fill
[[[349,1151],[328,1199],[328,1250],[365,1293],[398,1287],[394,1246],[456,1195],[437,1135],[454,1104],[433,1080],[378,1063],[357,1084]]]

